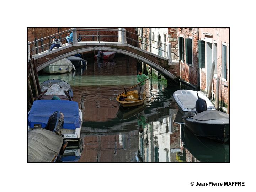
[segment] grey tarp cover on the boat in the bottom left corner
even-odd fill
[[[37,128],[28,131],[28,162],[52,162],[59,154],[63,137]]]

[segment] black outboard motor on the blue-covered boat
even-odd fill
[[[46,130],[53,131],[58,135],[62,135],[60,133],[60,129],[63,127],[64,124],[64,114],[60,111],[55,111],[49,117],[49,120],[46,125]]]

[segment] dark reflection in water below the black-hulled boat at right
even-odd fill
[[[186,126],[183,128],[184,147],[201,162],[229,162],[229,144],[197,137]]]

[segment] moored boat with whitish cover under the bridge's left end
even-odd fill
[[[43,68],[44,73],[67,73],[71,72],[73,68],[72,62],[66,58],[54,62],[45,68]]]

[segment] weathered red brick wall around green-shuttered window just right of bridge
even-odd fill
[[[180,76],[182,80],[189,82],[190,84],[197,87],[198,81],[198,39],[199,31],[198,28],[178,28],[177,37],[183,35],[184,38],[184,63],[180,61]],[[186,52],[185,52],[185,39],[192,36],[193,37],[193,65],[189,66],[186,63]]]

